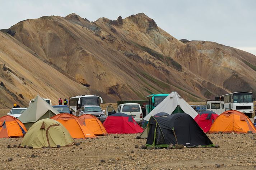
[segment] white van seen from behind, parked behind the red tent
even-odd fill
[[[138,103],[125,103],[117,107],[117,112],[122,112],[133,117],[136,122],[142,120],[142,110]]]

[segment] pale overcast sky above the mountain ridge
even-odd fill
[[[0,0],[0,29],[72,12],[95,21],[145,13],[177,39],[214,41],[256,55],[256,0]]]

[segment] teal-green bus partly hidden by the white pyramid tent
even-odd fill
[[[169,94],[152,94],[146,96],[147,114],[152,111],[157,105],[163,101]]]

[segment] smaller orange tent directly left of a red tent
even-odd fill
[[[90,131],[93,132],[94,135],[107,135],[107,131],[105,127],[102,125],[101,121],[97,119],[97,117],[90,115],[90,114],[84,114],[79,117],[84,125],[90,129]]]

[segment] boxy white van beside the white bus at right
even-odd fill
[[[225,110],[223,100],[207,100],[206,101],[206,110],[213,111],[218,115],[222,114]]]

